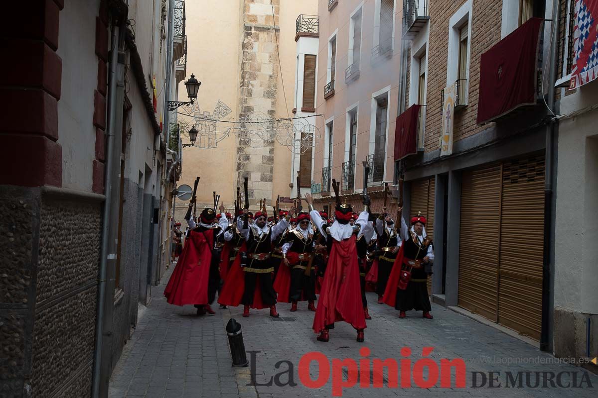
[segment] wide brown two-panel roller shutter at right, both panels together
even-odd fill
[[[460,307],[539,340],[544,156],[463,172]]]

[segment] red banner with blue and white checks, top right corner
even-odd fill
[[[598,76],[598,0],[575,0],[573,48],[575,58],[569,88],[587,84]]]

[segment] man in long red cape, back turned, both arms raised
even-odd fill
[[[334,329],[335,322],[342,320],[357,330],[357,341],[361,343],[364,341],[366,325],[355,236],[365,235],[368,242],[373,236],[374,230],[371,223],[368,223],[367,211],[370,198],[364,197],[365,210],[359,214],[353,226],[349,224],[353,209],[346,203],[341,205],[338,194],[335,220],[330,227],[327,227],[326,220],[322,219],[319,212],[313,209],[313,198],[309,193],[306,194],[306,202],[309,204],[312,222],[326,238],[330,252],[313,319],[313,331],[319,333],[319,341],[327,342],[329,330]]]

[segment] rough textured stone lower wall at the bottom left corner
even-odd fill
[[[2,187],[2,396],[89,394],[101,198]]]

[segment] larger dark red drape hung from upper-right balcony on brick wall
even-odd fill
[[[478,124],[536,103],[538,38],[543,22],[531,18],[481,55]]]

